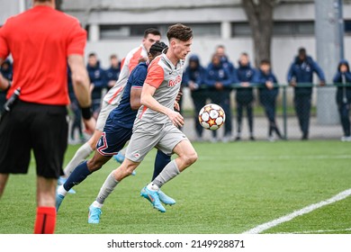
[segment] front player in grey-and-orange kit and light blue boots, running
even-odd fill
[[[175,97],[182,82],[184,59],[190,52],[193,41],[193,31],[177,23],[168,28],[166,35],[169,41],[166,53],[155,58],[148,67],[148,76],[140,96],[142,106],[134,121],[125,159],[121,166],[107,176],[97,195],[98,201],[90,205],[89,223],[99,223],[104,200],[123,178],[131,175],[152,148],[177,155],[140,192],[141,196],[161,212],[165,212],[166,209],[159,200],[159,188],[197,159],[193,145],[178,129],[183,126],[184,118],[174,110]]]

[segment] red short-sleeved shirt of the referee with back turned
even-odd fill
[[[48,6],[35,6],[9,18],[0,28],[0,58],[14,59],[13,85],[20,100],[66,105],[67,56],[84,55],[86,31],[76,18]]]

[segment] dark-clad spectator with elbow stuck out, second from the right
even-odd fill
[[[310,56],[307,56],[306,49],[299,49],[298,56],[295,57],[289,68],[287,80],[289,85],[294,87],[293,102],[303,140],[309,138],[314,72],[320,78],[320,85],[325,85],[326,80],[320,66]]]

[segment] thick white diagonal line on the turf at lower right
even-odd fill
[[[319,209],[320,207],[323,207],[325,205],[344,200],[349,195],[351,195],[351,188],[346,190],[346,191],[344,191],[344,192],[338,193],[337,195],[331,197],[330,199],[328,199],[326,201],[322,201],[322,202],[318,202],[318,203],[315,203],[315,204],[311,204],[311,205],[309,205],[309,206],[307,206],[305,208],[302,208],[301,210],[293,211],[290,214],[284,215],[281,218],[278,218],[278,219],[266,222],[264,224],[258,225],[254,229],[249,229],[249,230],[243,232],[243,234],[259,234],[259,233],[265,231],[266,229],[272,229],[275,226],[278,226],[279,224],[282,224],[282,223],[284,223],[286,221],[293,220],[295,217],[298,217],[298,216],[301,216],[303,214],[309,213],[309,212],[314,211],[316,209]]]

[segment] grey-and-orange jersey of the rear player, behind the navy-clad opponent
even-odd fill
[[[121,73],[115,85],[104,95],[103,101],[112,105],[118,105],[121,101],[121,94],[123,94],[124,86],[127,84],[130,72],[137,67],[140,58],[148,58],[148,51],[141,44],[139,47],[130,50],[121,62]]]

